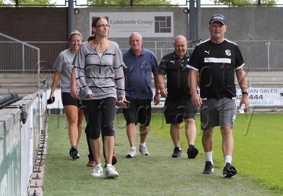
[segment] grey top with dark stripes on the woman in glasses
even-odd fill
[[[72,64],[80,86],[80,100],[125,97],[122,54],[116,42],[111,41],[103,55],[99,55],[85,41]],[[93,98],[87,99],[87,95],[93,95]]]

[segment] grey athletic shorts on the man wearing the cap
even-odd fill
[[[209,130],[216,126],[230,126],[233,128],[237,114],[235,99],[207,99],[202,100],[201,126],[202,130]]]

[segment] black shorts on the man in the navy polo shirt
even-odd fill
[[[126,97],[130,101],[130,106],[123,109],[124,118],[129,123],[141,123],[149,126],[151,119],[151,100],[150,99],[132,99]]]

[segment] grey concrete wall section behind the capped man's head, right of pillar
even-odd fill
[[[210,37],[208,22],[214,14],[226,18],[226,39],[283,39],[283,7],[202,8],[202,40]]]

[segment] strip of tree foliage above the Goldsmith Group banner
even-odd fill
[[[131,6],[131,0],[87,0],[87,4],[89,7],[111,7],[114,5],[129,7]],[[135,5],[135,7],[146,7],[146,5],[151,5],[152,7],[152,5],[170,5],[172,3],[171,0],[132,0],[132,4]]]

